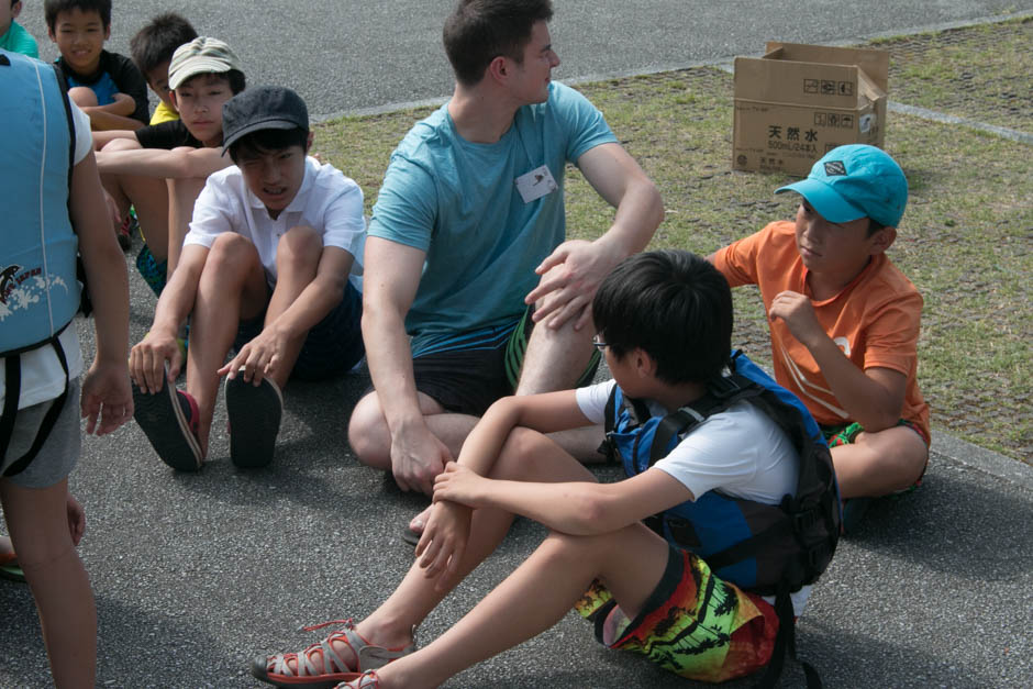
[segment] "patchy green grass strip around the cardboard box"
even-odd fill
[[[1028,32],[1030,22],[970,31],[995,44],[1003,26]],[[966,30],[969,31],[969,30]],[[984,36],[984,32],[988,35]],[[955,34],[952,45],[964,36]],[[937,34],[938,35],[938,34]],[[1026,34],[1028,35],[1028,34]],[[925,38],[923,38],[924,41]],[[930,41],[931,42],[931,41]],[[1007,42],[1006,42],[1007,43]],[[880,46],[892,45],[881,42]],[[946,48],[944,48],[946,49]],[[1010,54],[1010,53],[1009,53]],[[987,51],[957,49],[952,69],[989,80],[1000,68]],[[938,57],[937,57],[938,59]],[[1018,58],[1017,58],[1018,59]],[[1031,58],[1021,78],[1029,84]],[[899,66],[898,66],[899,68]],[[895,100],[910,80],[936,81],[951,70],[915,66],[891,82]],[[1018,70],[1010,65],[1009,69]],[[974,77],[975,79],[975,77]],[[795,200],[773,196],[795,179],[731,170],[732,76],[697,68],[584,85],[579,89],[607,116],[613,132],[656,181],[667,219],[652,247],[700,254],[790,218]],[[1026,89],[1025,93],[1033,92]],[[912,102],[943,111],[937,102]],[[989,103],[980,107],[989,108]],[[338,120],[316,127],[316,149],[355,178],[376,200],[390,152],[431,109]],[[981,112],[959,112],[993,121]],[[1006,126],[1033,131],[1033,109]],[[1003,124],[1003,122],[1001,122]],[[911,199],[892,260],[925,298],[919,343],[919,382],[932,407],[933,427],[1026,462],[1033,456],[1033,340],[1029,276],[1033,274],[1033,147],[917,118],[891,114],[886,148],[904,168]],[[609,227],[612,210],[576,168],[568,170],[568,235],[592,238]],[[735,290],[735,342],[770,363],[767,324],[757,291]]]

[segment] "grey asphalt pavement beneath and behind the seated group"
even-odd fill
[[[27,2],[23,19],[31,22],[36,15],[42,23],[40,4]],[[224,30],[231,43],[243,46],[242,53],[264,56],[262,67],[252,70],[259,75],[256,84],[286,75],[288,65],[297,74],[298,65],[322,69],[332,64],[331,71],[309,74],[311,82],[299,84],[319,102],[313,108],[318,113],[447,92],[447,77],[431,71],[442,62],[435,41],[448,3],[358,4],[138,1],[116,7],[138,18],[159,7],[177,9],[206,33],[208,26]],[[680,64],[679,55],[690,62],[755,53],[771,37],[834,41],[898,29],[903,33],[906,27],[1017,9],[1007,2],[935,2],[909,4],[895,14],[892,2],[801,2],[792,3],[791,11],[759,4],[625,1],[603,8],[560,2],[554,35],[567,59],[562,76],[567,70],[587,76]],[[263,18],[235,16],[244,5]],[[724,9],[719,12],[719,7]],[[735,19],[706,23],[719,13]],[[691,21],[685,15],[692,15]],[[129,23],[123,19],[115,25],[115,49],[127,43]],[[743,26],[747,23],[748,31]],[[836,33],[830,23],[848,26],[851,33]],[[277,29],[275,40],[262,36],[264,26]],[[691,40],[664,45],[665,36],[682,32]],[[351,36],[349,42],[343,44],[335,34]],[[285,55],[288,35],[295,36],[293,46]],[[581,37],[588,37],[584,51],[577,49]],[[606,49],[600,48],[603,42]],[[624,42],[626,47],[619,47]],[[621,69],[578,57],[593,52],[612,52]],[[359,62],[345,67],[343,53]],[[411,69],[401,70],[402,64]],[[353,74],[359,69],[367,70],[362,78]],[[397,76],[403,71],[414,76]],[[335,81],[340,88],[325,87]],[[154,309],[153,296],[131,265],[137,249],[129,255],[133,342],[149,326]],[[78,326],[89,349],[90,325]],[[71,485],[88,515],[79,551],[99,613],[98,686],[256,687],[247,674],[253,656],[300,649],[321,638],[320,632],[299,632],[300,625],[359,619],[393,589],[412,557],[399,537],[401,529],[424,501],[359,466],[346,444],[348,414],[367,385],[362,371],[333,381],[291,384],[277,457],[267,469],[237,470],[230,463],[222,408],[210,462],[196,475],[176,474],[162,464],[132,423],[84,443]],[[617,478],[612,471],[599,475]],[[1031,526],[1033,468],[934,429],[922,488],[880,501],[862,529],[841,542],[800,619],[800,656],[830,687],[1033,686]],[[533,523],[518,522],[500,552],[430,615],[419,638],[447,629],[522,562],[543,534]],[[38,623],[24,586],[0,581],[0,615],[7,627],[0,634],[0,687],[48,686]],[[792,670],[782,684],[801,681],[802,675]],[[592,641],[590,626],[569,614],[540,637],[447,686],[696,685],[604,651]]]

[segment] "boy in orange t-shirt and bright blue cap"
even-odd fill
[[[873,498],[920,482],[929,405],[915,380],[922,297],[886,257],[908,180],[882,151],[840,146],[807,179],[796,222],[773,222],[710,258],[732,287],[757,285],[775,378],[825,431],[849,531]]]

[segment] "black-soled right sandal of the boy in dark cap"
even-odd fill
[[[273,462],[282,415],[284,393],[271,379],[263,378],[255,386],[243,376],[227,378],[226,416],[233,464],[256,468]]]

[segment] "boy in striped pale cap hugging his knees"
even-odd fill
[[[231,164],[221,153],[222,107],[245,78],[229,45],[201,36],[175,49],[168,86],[179,119],[93,135],[101,180],[120,214],[115,232],[130,238],[132,204],[146,241],[136,266],[156,296],[176,268],[204,180]]]

